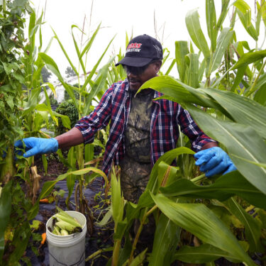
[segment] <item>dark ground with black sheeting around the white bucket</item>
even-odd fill
[[[35,160],[35,165],[38,168],[38,174],[40,174],[41,176],[40,191],[45,182],[55,180],[60,174],[67,172],[67,167],[65,167],[62,162],[57,159],[57,157],[52,157],[52,159],[48,161],[47,173],[45,173],[43,163],[40,158],[37,158],[37,160]],[[42,234],[45,232],[45,223],[53,214],[55,214],[56,206],[59,206],[63,210],[75,210],[74,192],[72,196],[70,196],[70,204],[68,207],[65,203],[65,199],[67,198],[68,194],[67,184],[65,180],[57,182],[54,192],[60,192],[61,189],[65,191],[64,196],[57,196],[55,198],[55,201],[50,204],[40,204],[40,209],[38,215],[35,217],[35,220],[41,221],[42,223],[36,233]],[[102,187],[101,178],[95,179],[91,184],[87,186],[87,188],[84,190],[84,196],[89,203],[89,208],[91,210],[94,224],[93,233],[89,234],[89,232],[87,231],[86,235],[85,257],[87,258],[97,250],[113,246],[113,225],[109,224],[108,226],[101,228],[99,226],[96,226],[95,223],[96,221],[101,221],[101,218],[106,213],[105,209],[106,207],[108,207],[108,205],[104,201],[104,189]],[[28,250],[26,250],[26,257],[31,260],[31,264],[33,266],[49,266],[49,250],[47,241],[45,241],[44,245],[40,245],[40,242],[31,240],[31,245],[33,245],[35,250],[38,250],[37,255],[35,254],[36,252],[33,253],[32,248],[28,248]],[[110,257],[111,252],[101,253],[94,259],[87,261],[85,265],[106,265]]]

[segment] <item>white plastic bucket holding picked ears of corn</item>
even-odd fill
[[[66,211],[82,225],[81,233],[55,235],[48,230],[52,227],[52,217],[46,223],[50,266],[84,266],[86,217],[78,211]]]

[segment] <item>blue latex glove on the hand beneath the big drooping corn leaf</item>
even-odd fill
[[[211,177],[214,174],[227,174],[236,170],[228,154],[219,147],[201,150],[194,154],[194,158],[196,158],[195,164],[200,165],[199,170],[205,172],[206,177]]]

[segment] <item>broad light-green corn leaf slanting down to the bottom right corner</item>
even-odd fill
[[[214,245],[238,260],[255,266],[233,233],[204,204],[178,204],[162,194],[152,194],[152,197],[162,213],[178,226],[196,235],[204,243]]]

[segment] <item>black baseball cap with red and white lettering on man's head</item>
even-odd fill
[[[116,64],[116,67],[118,65],[143,67],[153,60],[162,60],[162,45],[149,35],[138,35],[128,43],[126,55]]]

